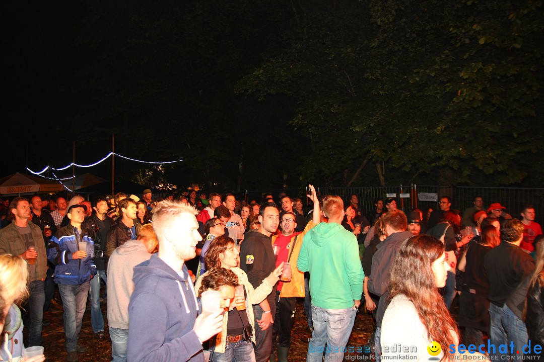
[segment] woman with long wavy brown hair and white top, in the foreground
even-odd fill
[[[428,236],[413,236],[401,244],[391,266],[390,304],[381,330],[382,355],[405,359],[416,355],[418,361],[429,360],[427,347],[438,342],[440,360],[449,358],[449,345],[458,345],[459,332],[438,288],[446,285],[449,265],[444,245]],[[391,352],[391,347],[416,346],[416,351]],[[402,357],[404,355],[404,358]]]

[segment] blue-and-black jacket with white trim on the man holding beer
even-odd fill
[[[72,259],[72,253],[78,250],[79,241],[87,242],[87,256]],[[47,259],[55,265],[55,283],[79,285],[91,280],[96,274],[96,265],[92,261],[94,248],[92,239],[78,234],[72,225],[59,228],[47,245]]]

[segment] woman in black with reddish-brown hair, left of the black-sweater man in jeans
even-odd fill
[[[490,334],[489,281],[484,268],[485,255],[500,244],[500,233],[494,225],[481,229],[479,238],[474,238],[461,257],[458,269],[465,272],[459,297],[459,326],[465,327],[465,344],[480,345],[483,332]]]

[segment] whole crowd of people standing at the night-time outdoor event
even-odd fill
[[[23,357],[22,328],[26,346],[42,345],[57,290],[69,362],[89,348],[79,340],[88,299],[97,339],[107,338],[107,301],[114,362],[287,362],[297,298],[312,332],[307,361],[342,361],[365,310],[375,360],[446,360],[460,344],[482,358],[540,355],[544,243],[533,206],[515,218],[476,196],[461,213],[444,196],[435,210],[405,213],[394,198],[364,210],[357,195],[309,189],[306,209],[285,193],[257,202],[194,190],[2,202],[2,361],[45,359]],[[206,310],[207,292],[219,309]]]

